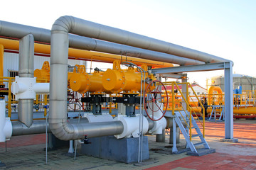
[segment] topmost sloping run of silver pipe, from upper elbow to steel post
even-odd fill
[[[73,16],[60,17],[57,21],[55,21],[55,28],[58,25],[59,28],[62,29],[61,27],[65,24],[67,26],[63,29],[64,31],[70,30],[71,33],[79,33],[79,35],[88,38],[96,38],[99,40],[116,42],[123,45],[139,47],[145,50],[164,52],[170,55],[186,57],[206,63],[228,62],[228,60],[217,57],[215,55],[209,55],[205,52],[182,47],[180,45],[174,45],[170,42],[149,38],[144,35],[131,33],[126,30],[104,26],[99,23],[85,21]]]

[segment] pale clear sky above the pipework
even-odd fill
[[[94,0],[3,1],[0,20],[50,29],[71,15],[233,60],[233,71],[255,77],[256,1]],[[206,86],[206,78],[189,74]]]

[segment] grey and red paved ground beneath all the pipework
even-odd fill
[[[48,152],[46,164],[45,134],[12,137],[0,143],[0,160],[6,166],[0,169],[256,169],[256,120],[234,120],[234,137],[238,143],[219,142],[224,137],[224,123],[206,122],[206,140],[214,154],[192,157],[185,153],[171,154],[171,145],[156,143],[149,137],[150,159],[144,164],[124,164],[80,154],[77,159],[68,157],[68,148]],[[178,149],[185,140],[181,135]],[[78,151],[80,146],[78,146]]]

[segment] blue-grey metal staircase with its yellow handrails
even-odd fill
[[[178,87],[178,85],[183,84],[186,85],[186,90],[183,92]],[[190,83],[180,83],[177,84],[175,81],[166,82],[166,86],[171,86],[171,95],[169,96],[169,103],[171,103],[171,113],[165,116],[173,118],[173,147],[172,147],[172,153],[178,153],[178,149],[176,147],[176,124],[178,125],[178,128],[180,128],[183,136],[186,140],[186,148],[189,148],[191,152],[188,152],[187,154],[194,155],[194,156],[202,156],[205,154],[210,154],[215,152],[215,149],[210,149],[208,143],[206,142],[204,138],[205,134],[205,108],[203,107],[203,104],[201,103],[201,99],[198,98],[196,95],[196,92],[193,90],[193,87]],[[188,93],[188,87],[190,86],[191,90],[193,91],[193,94],[195,96],[190,96]],[[176,90],[174,90],[176,89]],[[196,100],[194,99],[196,98]],[[198,102],[198,103],[196,103]],[[200,118],[198,118],[197,113],[193,109],[193,106],[200,106],[202,113],[200,113]],[[168,107],[169,104],[166,105]],[[192,114],[193,113],[193,114]],[[198,123],[196,123],[196,120],[193,118],[193,115],[196,116],[195,118],[198,119],[198,123],[201,124],[203,133],[201,132],[200,128],[198,127]],[[200,141],[200,142],[198,142]]]

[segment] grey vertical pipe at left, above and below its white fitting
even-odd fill
[[[33,77],[34,38],[28,34],[19,42],[18,75],[19,77]],[[33,99],[18,101],[18,120],[28,128],[33,122]]]

